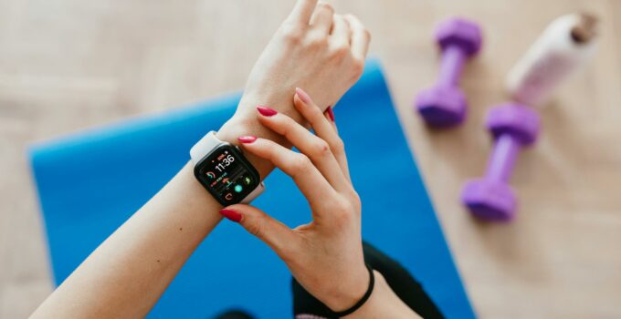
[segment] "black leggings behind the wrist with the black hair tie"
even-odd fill
[[[382,273],[390,288],[416,314],[426,319],[444,318],[420,283],[416,282],[399,262],[395,262],[384,252],[380,252],[367,242],[363,242],[363,250],[364,262],[371,265],[377,272]],[[326,318],[337,318],[325,304],[304,290],[295,279],[292,280],[291,285],[293,288],[294,315],[314,314]]]

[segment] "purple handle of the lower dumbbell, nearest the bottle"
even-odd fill
[[[489,180],[509,182],[515,160],[521,150],[521,143],[510,134],[500,135],[495,143],[494,150],[488,162],[485,175]]]

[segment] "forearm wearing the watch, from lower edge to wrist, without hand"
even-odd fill
[[[235,144],[237,137],[248,134],[273,133],[259,125],[253,114],[232,118],[217,135]],[[269,161],[247,155],[261,177],[273,170]],[[187,163],[101,243],[33,316],[147,314],[184,262],[221,221],[218,211],[222,206],[195,180],[193,170],[192,163]]]

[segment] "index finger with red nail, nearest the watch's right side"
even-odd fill
[[[289,175],[309,201],[311,207],[318,207],[325,199],[336,196],[319,170],[312,165],[310,159],[291,149],[287,149],[269,139],[254,137],[239,138],[244,149],[259,158],[271,161],[276,167]]]

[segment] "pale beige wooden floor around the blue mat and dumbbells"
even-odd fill
[[[289,1],[290,2],[290,1]],[[0,0],[0,318],[22,318],[52,289],[26,146],[242,87],[291,6],[283,0]],[[621,317],[621,1],[338,0],[371,29],[468,293],[482,318]],[[555,16],[603,20],[599,52],[542,108],[542,139],[512,184],[516,221],[484,224],[459,205],[484,170],[486,109]],[[426,129],[411,110],[434,80],[430,36],[447,15],[478,20],[479,58],[462,85],[458,129]],[[424,258],[424,257],[423,257]]]

